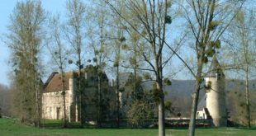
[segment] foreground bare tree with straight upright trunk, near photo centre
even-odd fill
[[[171,2],[167,0],[149,0],[149,1],[122,1],[122,5],[126,5],[126,12],[124,8],[117,8],[115,3],[105,1],[116,13],[121,16],[121,19],[126,22],[140,36],[147,42],[145,45],[138,44],[137,50],[148,64],[150,72],[154,73],[156,81],[155,94],[159,97],[159,136],[164,136],[164,91],[163,91],[163,49],[165,45],[166,25],[171,23],[171,17],[168,16],[168,9],[171,7]],[[131,15],[131,16],[129,16]],[[140,28],[138,30],[133,22],[139,22]]]

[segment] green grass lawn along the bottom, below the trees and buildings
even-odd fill
[[[157,136],[157,129],[35,129],[0,119],[1,136]],[[166,129],[167,136],[186,136],[187,129]],[[256,136],[256,129],[196,129],[197,136]]]

